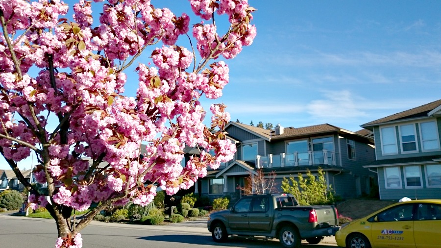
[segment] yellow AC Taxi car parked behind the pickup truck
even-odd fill
[[[441,248],[441,199],[392,204],[343,224],[335,239],[346,248]]]

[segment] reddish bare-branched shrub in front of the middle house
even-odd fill
[[[257,170],[257,175],[250,173],[245,180],[248,182],[245,186],[238,186],[237,189],[249,194],[264,194],[277,192],[276,174],[271,172],[264,175],[262,169]]]

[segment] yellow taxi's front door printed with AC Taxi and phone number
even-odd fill
[[[407,203],[379,213],[371,226],[372,247],[416,248],[413,208],[414,204]]]

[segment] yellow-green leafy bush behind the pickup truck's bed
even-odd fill
[[[293,194],[300,205],[332,204],[335,201],[334,190],[328,186],[323,169],[319,168],[317,177],[309,170],[306,178],[298,174],[298,182],[294,177],[284,177],[282,180],[283,192]]]

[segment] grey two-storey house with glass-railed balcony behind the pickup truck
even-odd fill
[[[230,122],[225,131],[236,144],[235,158],[195,185],[195,193],[218,198],[229,195],[234,202],[241,197],[238,186],[247,186],[246,177],[262,169],[276,174],[277,190],[283,177],[317,174],[322,168],[326,181],[337,195],[354,198],[369,193],[376,184],[375,174],[363,168],[375,160],[373,139],[330,124],[267,130]]]

